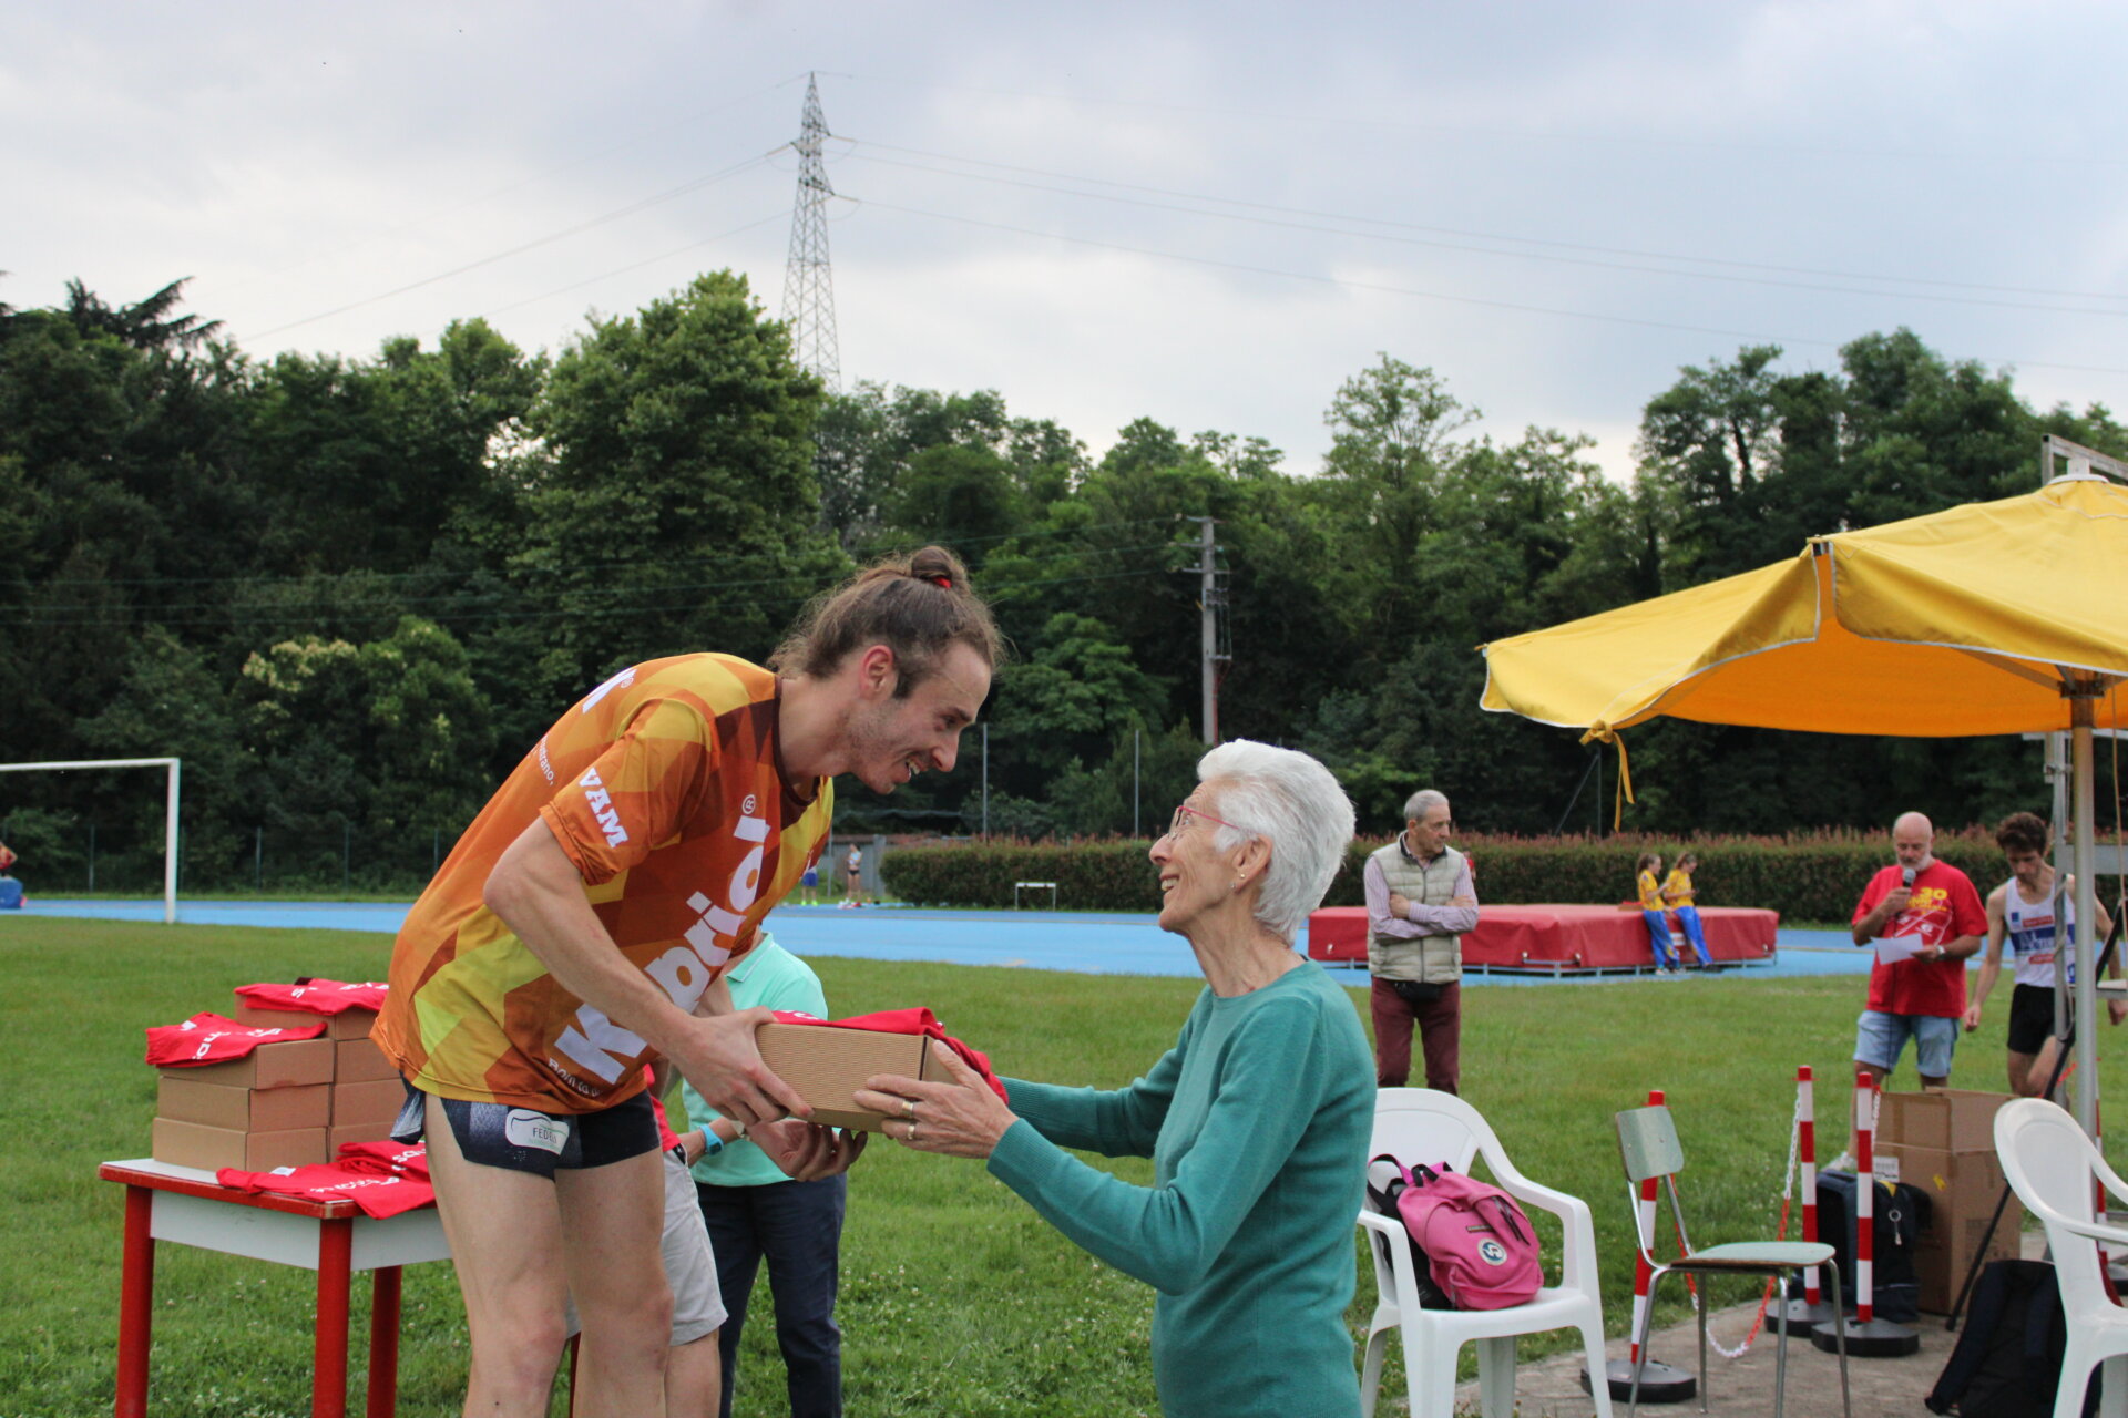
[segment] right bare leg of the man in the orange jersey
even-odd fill
[[[672,1290],[664,1280],[664,1161],[651,1150],[609,1167],[553,1174],[562,1267],[577,1299],[577,1418],[664,1414]]]

